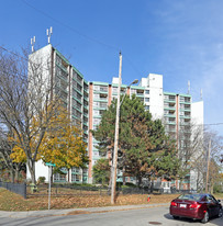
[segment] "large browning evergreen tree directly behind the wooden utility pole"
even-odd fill
[[[113,101],[93,131],[94,138],[99,140],[99,150],[104,155],[114,146],[115,105],[116,101]],[[179,165],[175,157],[176,149],[165,135],[161,121],[153,121],[150,113],[135,95],[124,97],[120,112],[121,157],[118,168],[125,176],[136,177],[138,185],[145,177],[177,174]]]

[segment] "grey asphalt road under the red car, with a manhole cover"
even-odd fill
[[[201,226],[199,221],[172,219],[168,214],[168,207],[150,207],[141,210],[115,211],[107,213],[91,213],[78,215],[26,217],[26,218],[0,218],[1,226]],[[205,226],[223,226],[223,218],[213,218]]]

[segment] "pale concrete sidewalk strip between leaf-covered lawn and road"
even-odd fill
[[[169,206],[169,203],[143,204],[143,205],[118,205],[118,206],[104,206],[104,207],[49,210],[49,211],[48,210],[29,211],[29,212],[0,211],[0,217],[12,217],[12,218],[46,217],[46,216],[60,216],[60,215],[104,213],[104,212],[113,212],[113,211],[127,211],[127,210],[157,207],[157,206]]]

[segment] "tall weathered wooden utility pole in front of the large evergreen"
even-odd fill
[[[113,150],[113,162],[112,162],[111,204],[114,204],[115,190],[116,190],[116,162],[118,162],[118,148],[119,148],[120,91],[121,91],[121,83],[122,83],[122,54],[120,52],[119,88],[118,88],[118,100],[116,100],[114,150]]]

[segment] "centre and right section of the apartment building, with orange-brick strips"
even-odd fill
[[[197,117],[203,124],[203,102],[192,103],[192,97],[185,93],[164,92],[163,76],[149,74],[142,78],[138,86],[121,86],[121,94],[136,94],[152,113],[154,120],[160,118],[166,133],[177,142],[178,156],[185,160],[186,149],[191,145],[191,123]],[[89,83],[89,129],[96,129],[100,124],[103,111],[111,104],[118,94],[118,78],[112,83]],[[193,106],[193,108],[192,108]],[[92,167],[100,159],[97,149],[98,142],[89,134],[89,182],[92,182]],[[185,155],[185,156],[183,156]],[[183,157],[182,157],[183,156]],[[174,181],[177,189],[197,189],[196,172],[190,171],[183,181]],[[122,172],[118,172],[118,181],[122,181]],[[170,185],[170,183],[168,183]]]

